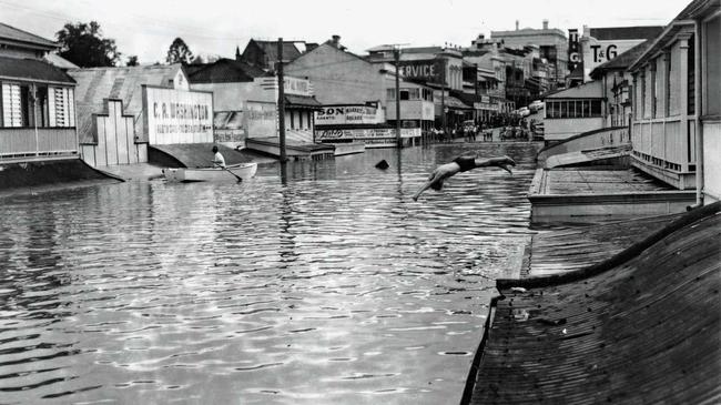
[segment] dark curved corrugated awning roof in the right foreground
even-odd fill
[[[464,403],[721,403],[720,211],[562,276],[499,280]]]

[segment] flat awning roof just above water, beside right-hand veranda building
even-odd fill
[[[620,220],[683,212],[695,191],[676,190],[633,169],[538,169],[528,200],[532,222]]]

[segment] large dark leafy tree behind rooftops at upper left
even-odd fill
[[[120,59],[115,40],[102,38],[100,24],[67,23],[55,33],[60,44],[60,55],[81,68],[114,67]]]

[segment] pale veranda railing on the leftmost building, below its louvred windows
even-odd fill
[[[75,128],[0,128],[0,160],[77,153]]]

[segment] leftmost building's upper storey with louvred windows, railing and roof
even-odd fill
[[[75,81],[44,60],[58,48],[0,23],[0,163],[79,156]]]

